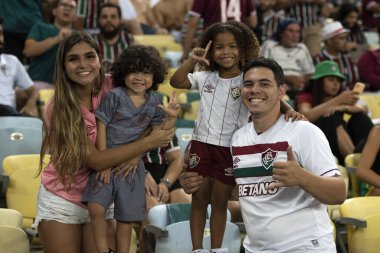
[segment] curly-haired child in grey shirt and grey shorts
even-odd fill
[[[149,127],[175,126],[180,111],[175,93],[165,108],[154,92],[166,74],[165,63],[155,48],[133,45],[124,50],[112,67],[116,88],[105,95],[95,113],[100,149],[130,143]],[[98,252],[114,252],[109,249],[104,218],[112,203],[117,220],[116,252],[129,252],[132,222],[146,219],[145,167],[141,156],[127,166],[132,172],[126,178],[117,171],[111,173],[110,169],[100,175],[93,173],[85,189],[83,202],[88,203]]]

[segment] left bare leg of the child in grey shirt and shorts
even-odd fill
[[[97,203],[88,203],[90,213],[90,224],[96,248],[99,253],[108,252],[107,221],[104,217],[105,208]]]

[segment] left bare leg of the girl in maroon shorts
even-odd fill
[[[202,185],[193,193],[190,211],[190,229],[193,250],[203,249],[203,233],[206,223],[207,206],[210,202],[211,179],[204,178]]]

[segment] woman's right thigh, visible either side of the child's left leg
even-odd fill
[[[107,220],[107,242],[108,242],[108,247],[113,250],[116,249],[115,231],[116,231],[116,221]],[[82,252],[84,253],[97,252],[90,223],[86,223],[83,225]]]

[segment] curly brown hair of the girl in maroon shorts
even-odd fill
[[[257,40],[256,35],[247,25],[238,21],[227,21],[225,23],[216,23],[210,26],[201,35],[197,43],[197,46],[201,48],[206,48],[206,45],[210,40],[214,41],[219,33],[225,32],[229,32],[234,36],[236,43],[239,47],[239,52],[241,56],[239,64],[240,69],[242,69],[245,62],[247,62],[250,59],[256,58],[259,55],[260,44]],[[219,66],[212,59],[212,48],[213,45],[211,45],[211,48],[206,56],[208,61],[210,62],[210,66],[202,64],[202,70],[215,71],[219,69]]]

